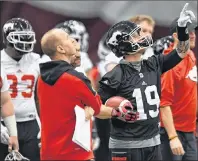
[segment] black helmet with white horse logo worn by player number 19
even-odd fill
[[[121,57],[151,46],[153,40],[151,36],[141,36],[139,25],[121,21],[109,29],[106,43],[117,57]]]

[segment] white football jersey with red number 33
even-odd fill
[[[29,53],[17,62],[7,53],[1,51],[1,64],[3,64],[8,83],[9,92],[15,107],[17,122],[34,120],[36,118],[36,105],[34,100],[35,84],[40,75],[40,55]]]

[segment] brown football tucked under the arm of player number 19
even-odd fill
[[[129,102],[129,101],[124,97],[113,96],[105,102],[105,105],[112,107],[112,108],[117,108],[121,105],[121,102],[125,103],[125,102]]]

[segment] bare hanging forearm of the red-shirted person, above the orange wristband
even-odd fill
[[[175,130],[170,106],[161,107],[160,111],[161,111],[162,122],[164,124],[164,128],[166,129],[166,132],[168,133],[169,138],[176,136],[177,133]]]

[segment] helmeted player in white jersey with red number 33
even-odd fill
[[[18,129],[19,149],[23,156],[30,160],[40,160],[37,135],[40,131],[34,100],[37,78],[40,74],[40,55],[33,53],[36,42],[31,24],[22,18],[8,20],[3,26],[1,51],[9,92],[15,107]],[[0,144],[0,156],[7,155],[5,145]]]

